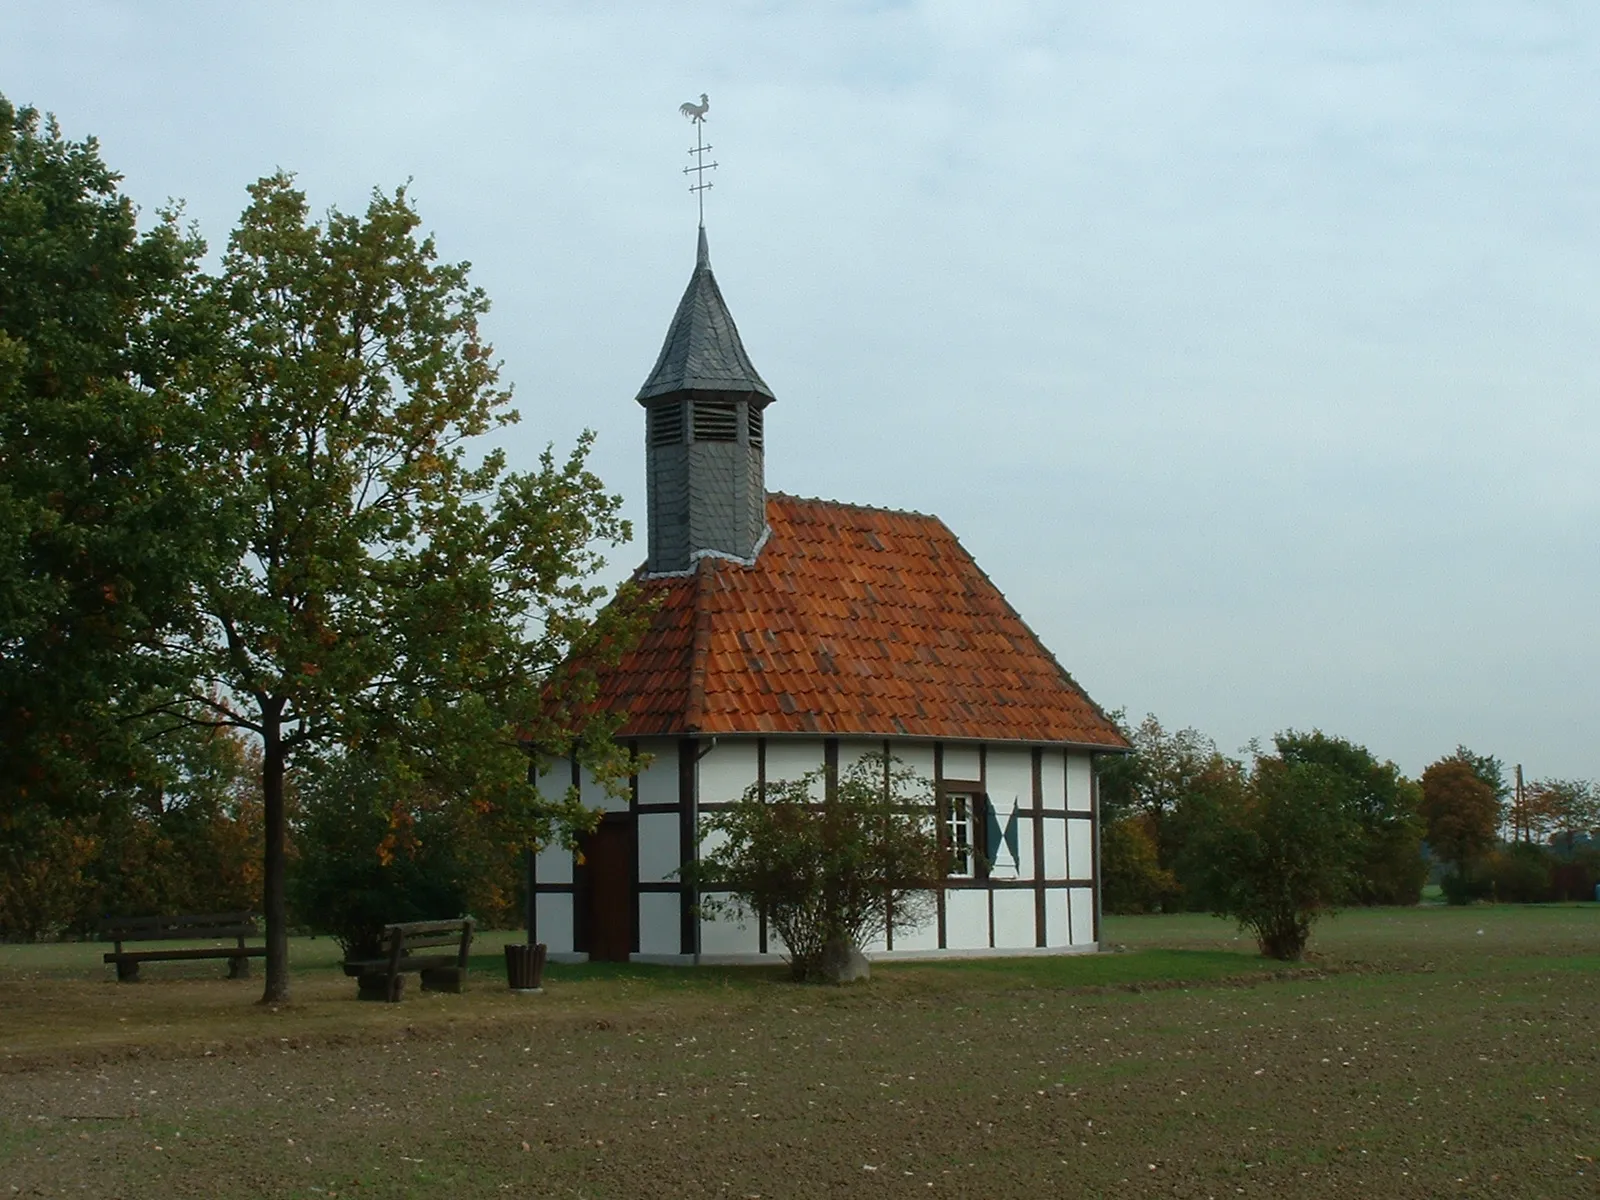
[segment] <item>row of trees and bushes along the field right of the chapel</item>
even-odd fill
[[[1304,910],[1331,910],[1416,904],[1430,878],[1453,904],[1592,899],[1600,878],[1589,781],[1538,779],[1518,798],[1504,763],[1466,746],[1408,779],[1320,730],[1285,730],[1242,757],[1154,715],[1125,733],[1133,752],[1099,771],[1109,912],[1229,912],[1270,952],[1296,928],[1242,915],[1262,880],[1298,888]]]

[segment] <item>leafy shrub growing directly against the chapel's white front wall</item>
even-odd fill
[[[931,787],[896,758],[866,755],[837,786],[811,771],[746,789],[707,814],[699,861],[683,875],[709,914],[765,914],[795,981],[814,979],[822,949],[862,946],[896,922],[926,920],[930,888],[950,869]]]

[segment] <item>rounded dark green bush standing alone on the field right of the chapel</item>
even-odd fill
[[[1362,851],[1349,779],[1322,763],[1258,757],[1234,795],[1213,798],[1192,853],[1219,917],[1296,962],[1312,925],[1350,893]]]

